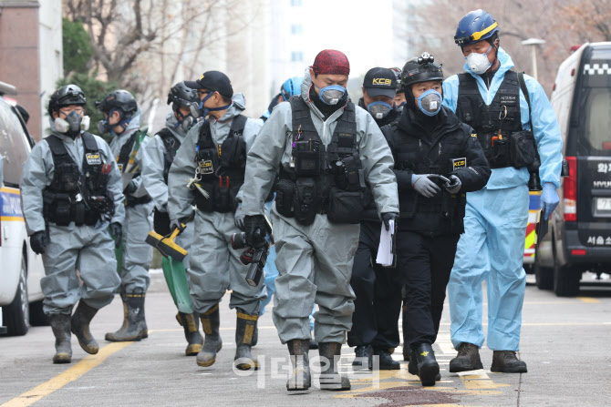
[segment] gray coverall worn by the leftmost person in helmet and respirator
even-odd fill
[[[51,128],[54,129],[53,123]],[[82,170],[85,154],[82,138],[78,136],[73,140],[60,133],[54,134],[63,140],[68,154]],[[109,145],[101,137],[95,138],[102,159],[112,164],[108,188],[115,203],[115,214],[110,222],[98,222],[96,226],[76,226],[74,222],[68,226],[48,224],[48,246],[42,255],[47,276],[40,280],[45,294],[43,310],[46,314],[69,315],[79,299],[92,308],[100,309],[112,301],[119,287],[115,244],[108,227],[109,223],[123,223],[125,219],[122,181]],[[47,141],[40,141],[32,148],[21,176],[21,205],[29,236],[46,229],[43,189],[51,184],[54,174],[51,148]],[[82,286],[77,270],[83,280]]]

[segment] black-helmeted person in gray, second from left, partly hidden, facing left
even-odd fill
[[[142,185],[141,151],[150,141],[147,128],[140,128],[141,112],[136,99],[127,90],[115,90],[96,102],[104,113],[98,122],[100,133],[110,133],[110,149],[117,158],[125,194],[123,240],[117,250],[120,296],[123,300],[123,324],[119,331],[108,332],[107,341],[140,341],[147,338],[144,297],[150,284],[152,248],[145,242],[152,229],[153,202]]]

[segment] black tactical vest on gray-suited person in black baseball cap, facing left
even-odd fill
[[[238,206],[236,196],[244,182],[246,169],[246,142],[243,131],[248,117],[233,117],[229,134],[222,145],[215,146],[210,122],[200,127],[195,148],[195,178],[208,193],[205,198],[195,191],[195,203],[202,212],[231,212]]]

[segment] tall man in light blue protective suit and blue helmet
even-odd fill
[[[488,347],[492,371],[525,372],[518,360],[526,274],[522,267],[529,196],[527,167],[541,157],[544,219],[558,205],[562,139],[543,87],[515,73],[499,45],[492,15],[462,17],[454,40],[465,72],[443,83],[443,103],[475,129],[492,176],[486,188],[467,194],[465,233],[450,276],[451,340],[459,351],[450,371],[482,369],[482,281],[488,291]],[[524,92],[525,91],[525,92]]]

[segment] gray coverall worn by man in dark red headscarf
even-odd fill
[[[301,86],[302,97],[310,107],[312,120],[325,146],[343,113],[340,108],[323,121],[323,115],[309,98],[312,81],[309,76]],[[397,182],[388,144],[368,112],[356,107],[357,146],[365,178],[373,188],[378,213],[399,213]],[[281,165],[290,162],[293,133],[292,111],[288,102],[274,108],[259,132],[246,161],[243,188],[245,215],[262,215],[264,199],[269,193]],[[301,225],[285,218],[272,208],[274,240],[279,276],[275,280],[274,324],[280,341],[310,339],[309,315],[316,302],[315,340],[345,342],[352,326],[354,291],[350,276],[358,246],[359,226],[334,224],[326,215],[316,215],[314,223]]]

